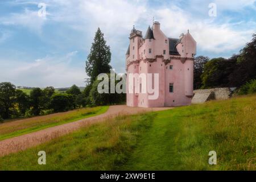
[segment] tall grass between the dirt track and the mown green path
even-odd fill
[[[1,170],[113,170],[128,159],[154,113],[121,116],[84,127],[29,150],[0,158]],[[46,151],[47,165],[38,164]]]

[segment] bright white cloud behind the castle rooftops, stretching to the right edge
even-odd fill
[[[198,48],[214,53],[232,51],[244,46],[255,31],[247,26],[244,30],[236,29],[228,22],[215,24],[211,19],[193,19],[178,7],[155,10],[155,14],[168,36],[177,38],[181,32],[185,33],[189,29]],[[253,24],[255,23],[250,22],[250,25]]]

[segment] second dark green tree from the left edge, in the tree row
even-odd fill
[[[18,104],[19,113],[24,115],[30,109],[30,97],[22,90],[16,90],[16,103]]]

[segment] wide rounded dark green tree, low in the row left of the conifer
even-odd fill
[[[51,97],[51,108],[55,112],[62,112],[72,109],[73,96],[67,93],[56,93]]]

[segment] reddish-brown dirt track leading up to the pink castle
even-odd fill
[[[79,129],[82,126],[86,126],[90,123],[99,122],[104,119],[113,118],[118,114],[137,114],[146,111],[158,111],[166,110],[171,107],[152,107],[152,108],[142,108],[142,107],[128,107],[126,105],[115,105],[110,106],[106,113],[97,115],[90,118],[81,119],[79,121],[65,123],[63,125],[49,127],[48,129],[43,129],[36,131],[34,133],[20,135],[18,137],[9,138],[0,141],[0,156],[7,155],[13,152],[18,152],[26,150],[27,148],[36,146],[38,144],[47,142],[53,138],[60,137],[62,135],[71,133]],[[18,122],[22,122],[19,120]]]

